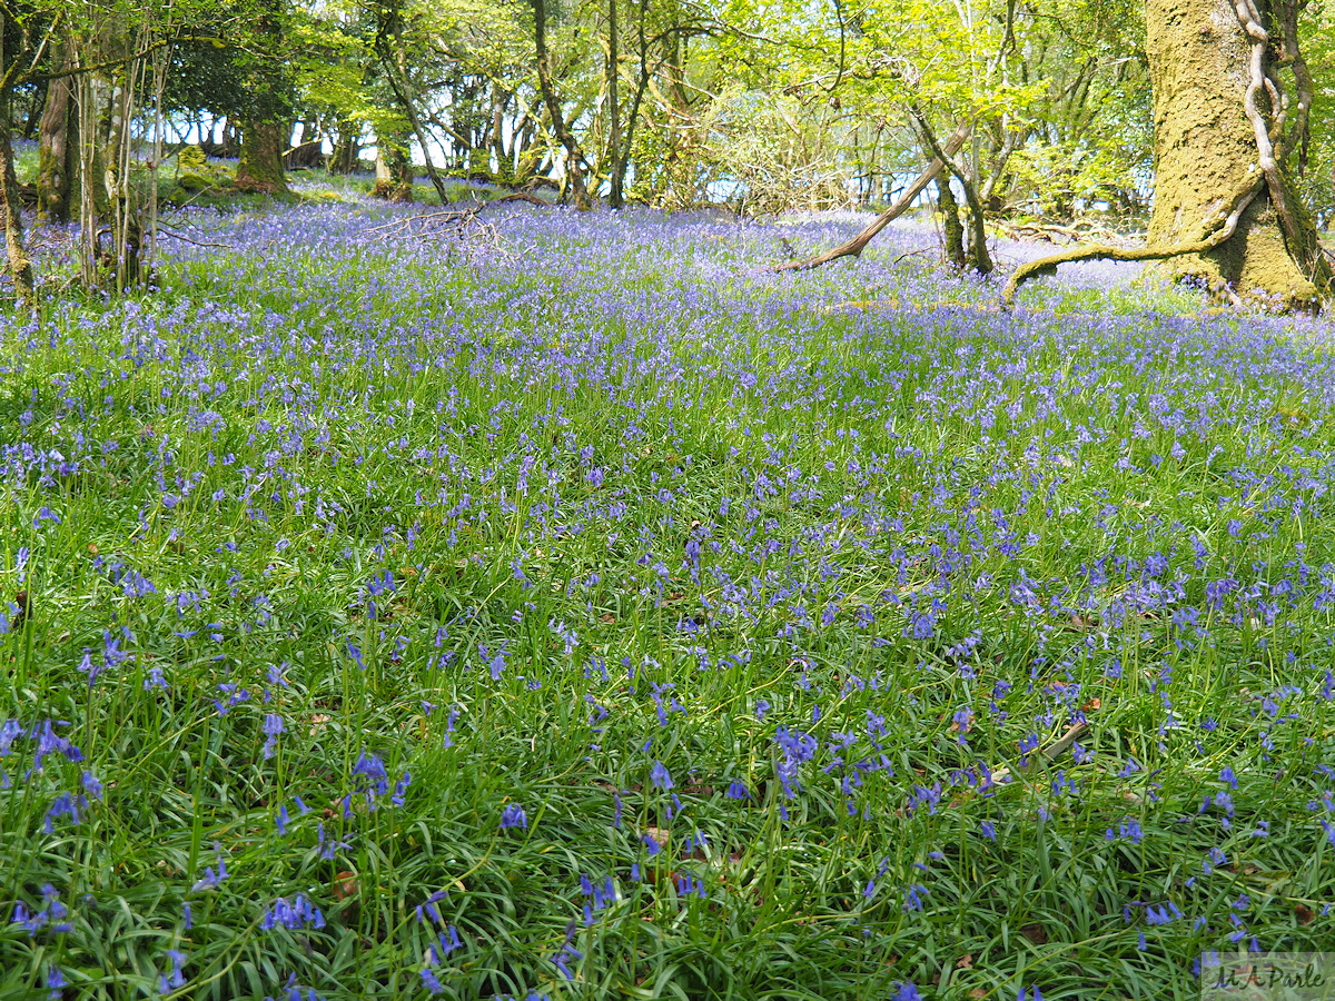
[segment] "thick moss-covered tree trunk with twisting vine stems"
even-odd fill
[[[1216,291],[1303,308],[1328,290],[1330,268],[1287,168],[1311,95],[1296,29],[1278,8],[1270,0],[1239,0],[1238,9],[1231,0],[1147,0],[1155,93],[1149,247],[1210,238],[1224,226],[1238,194],[1255,187],[1226,240],[1175,256],[1167,267]],[[1276,128],[1267,89],[1283,85],[1283,65],[1295,69],[1298,100]]]

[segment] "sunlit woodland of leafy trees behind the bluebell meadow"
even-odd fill
[[[1280,7],[1316,81],[1294,184],[1327,228],[1335,13]],[[279,194],[318,165],[374,170],[390,200],[425,175],[441,202],[465,179],[581,207],[880,208],[959,133],[921,200],[979,271],[985,220],[1108,236],[1144,227],[1153,188],[1139,0],[37,0],[5,13],[4,53],[3,140],[39,144],[11,200],[84,214],[89,283],[99,260],[138,276],[159,198]]]

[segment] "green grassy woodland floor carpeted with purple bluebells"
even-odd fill
[[[446,997],[1195,997],[1230,914],[1327,941],[1327,332],[383,211],[200,219],[236,250],[4,328],[0,900],[72,926],[0,925],[0,996],[170,949],[180,996],[425,996],[447,925]],[[29,774],[48,718],[84,759]],[[263,928],[298,894],[322,928]]]

